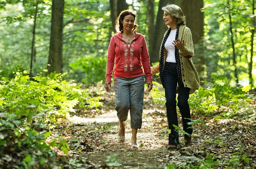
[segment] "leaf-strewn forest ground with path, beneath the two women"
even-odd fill
[[[232,116],[221,112],[192,113],[192,119],[205,122],[193,125],[190,144],[185,146],[180,134],[180,144],[169,151],[165,106],[154,103],[145,93],[142,128],[137,133],[139,149],[132,150],[129,117],[125,142],[120,143],[114,93],[106,93],[103,101],[105,107],[101,110],[79,110],[71,114],[70,123],[61,129],[66,140],[80,140],[69,142],[68,156],[58,151],[58,156],[66,158],[64,168],[256,168],[256,112],[244,110]],[[182,129],[180,114],[179,128]]]

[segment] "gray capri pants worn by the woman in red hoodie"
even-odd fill
[[[130,109],[131,128],[141,129],[144,82],[144,75],[135,78],[114,77],[117,117],[120,121],[126,121]]]

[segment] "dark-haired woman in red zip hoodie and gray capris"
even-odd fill
[[[138,149],[137,130],[141,129],[144,98],[144,74],[147,90],[152,89],[152,75],[143,35],[136,32],[136,14],[124,10],[117,18],[117,33],[110,40],[105,88],[109,91],[114,72],[115,110],[120,121],[119,142],[125,141],[125,121],[130,110],[132,149]],[[142,70],[143,67],[143,70]]]

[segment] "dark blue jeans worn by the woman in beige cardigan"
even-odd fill
[[[166,112],[168,119],[168,128],[171,129],[169,134],[169,145],[179,144],[179,134],[175,131],[173,124],[178,126],[178,117],[176,111],[176,86],[178,82],[178,75],[176,70],[176,63],[166,62],[164,66],[164,89],[166,98]],[[182,87],[178,91],[178,108],[180,109],[180,114],[182,117],[183,130],[192,134],[192,125],[187,124],[191,122],[190,108],[188,104],[190,88]],[[187,119],[188,118],[188,119]]]

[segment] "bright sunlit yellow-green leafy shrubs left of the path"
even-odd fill
[[[26,114],[27,109],[33,109],[34,113],[68,116],[75,106],[102,106],[98,96],[91,97],[90,91],[81,89],[73,81],[64,80],[65,75],[66,73],[51,73],[48,76],[35,76],[30,80],[24,71],[17,72],[11,80],[2,78],[0,109],[20,115],[21,112]],[[3,109],[4,105],[8,105],[7,109]]]

